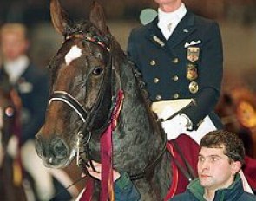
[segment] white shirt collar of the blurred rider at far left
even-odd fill
[[[15,61],[3,62],[4,69],[9,75],[11,83],[16,81],[23,75],[23,72],[28,68],[30,60],[26,55],[18,57]]]

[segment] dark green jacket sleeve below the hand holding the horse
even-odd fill
[[[115,181],[115,201],[137,201],[141,195],[130,180],[128,173],[121,173],[121,177]]]

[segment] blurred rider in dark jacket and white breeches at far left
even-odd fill
[[[44,121],[49,97],[49,78],[46,72],[30,62],[27,34],[22,23],[6,23],[0,29],[0,74],[9,75],[9,81],[21,100],[20,139],[10,140],[9,152],[16,157],[16,147],[20,144],[23,167],[35,181],[38,199],[49,200],[54,193],[52,177],[38,158],[34,145],[34,137]]]

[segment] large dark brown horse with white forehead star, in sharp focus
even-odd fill
[[[166,134],[150,110],[140,73],[111,35],[102,6],[94,2],[89,20],[75,22],[51,0],[50,14],[64,40],[49,62],[49,106],[36,134],[43,164],[64,168],[75,154],[78,165],[81,159],[82,166],[101,162],[102,133],[115,125],[113,168],[128,172],[141,200],[164,199],[174,178]],[[95,180],[93,200],[99,200],[100,185]]]

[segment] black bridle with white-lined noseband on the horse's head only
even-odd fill
[[[54,91],[49,96],[49,105],[53,101],[61,101],[65,104],[67,104],[69,107],[71,107],[75,111],[75,113],[77,113],[77,115],[80,117],[80,119],[82,120],[82,126],[80,127],[80,129],[76,135],[76,138],[75,138],[76,160],[77,160],[76,163],[77,163],[77,165],[80,166],[80,165],[82,165],[82,162],[83,162],[83,161],[81,161],[81,156],[80,156],[81,153],[83,153],[83,152],[81,152],[81,146],[87,147],[84,152],[87,153],[88,158],[91,158],[91,157],[89,157],[90,154],[89,154],[88,144],[89,144],[89,140],[91,139],[91,133],[92,133],[92,129],[93,129],[92,126],[93,126],[94,120],[97,117],[98,111],[102,107],[102,104],[103,104],[102,100],[104,100],[104,96],[107,95],[106,93],[111,94],[111,102],[110,102],[109,108],[108,108],[108,117],[105,120],[105,122],[103,123],[103,125],[100,128],[94,130],[94,132],[101,133],[108,126],[108,124],[110,122],[111,113],[113,112],[113,109],[115,107],[115,86],[114,86],[115,65],[113,65],[113,59],[112,59],[110,48],[108,48],[108,46],[105,44],[105,42],[103,42],[102,37],[91,36],[89,34],[88,35],[75,34],[75,35],[65,37],[65,41],[72,39],[72,38],[81,38],[82,40],[95,43],[96,45],[99,45],[100,47],[102,47],[102,49],[107,51],[108,55],[109,55],[108,66],[106,68],[107,70],[106,70],[106,73],[104,73],[104,75],[103,75],[102,88],[99,91],[99,94],[95,100],[94,106],[89,111],[87,111],[82,106],[82,104],[78,100],[75,99],[74,96],[72,96],[71,94],[69,94],[66,91]],[[110,80],[110,83],[108,83],[108,80]],[[87,138],[85,136],[85,132],[87,133]],[[89,159],[89,162],[92,165],[90,159]]]

